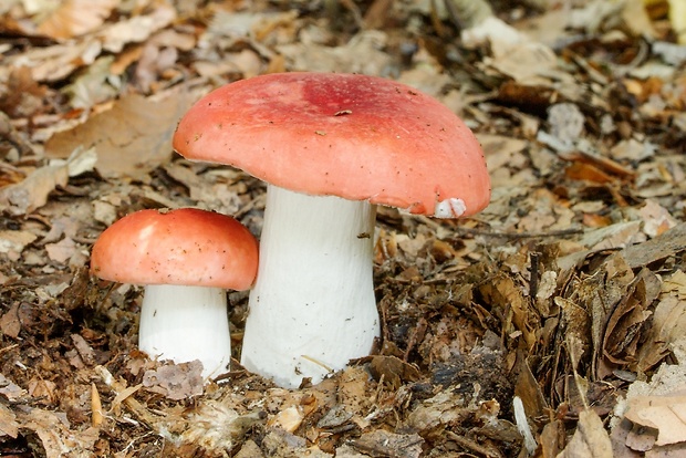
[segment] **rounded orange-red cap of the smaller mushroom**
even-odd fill
[[[142,210],[107,228],[93,246],[91,272],[121,283],[249,289],[258,243],[236,219],[183,208]]]

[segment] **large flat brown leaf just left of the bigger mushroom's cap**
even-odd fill
[[[65,157],[74,148],[95,148],[95,168],[105,176],[141,177],[172,157],[172,135],[190,106],[188,93],[175,90],[164,98],[131,94],[112,110],[54,134],[45,144],[50,157]]]

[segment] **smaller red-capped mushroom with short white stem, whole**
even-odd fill
[[[257,266],[258,243],[246,227],[191,208],[125,216],[91,254],[93,274],[145,285],[139,348],[175,363],[199,360],[206,379],[231,360],[225,289],[249,289]]]

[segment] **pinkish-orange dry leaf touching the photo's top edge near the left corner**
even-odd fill
[[[100,28],[119,0],[65,0],[39,25],[40,33],[70,39]]]

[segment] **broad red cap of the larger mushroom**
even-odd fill
[[[472,215],[490,199],[484,153],[462,121],[374,76],[281,73],[228,84],[188,111],[174,148],[294,191],[413,214],[460,199],[466,208],[448,206],[454,216]]]

